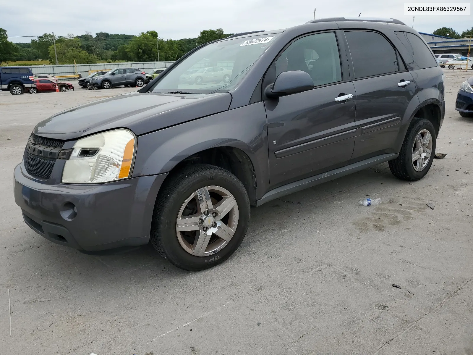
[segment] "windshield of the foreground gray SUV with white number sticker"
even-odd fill
[[[156,83],[152,92],[227,92],[245,77],[278,35],[255,35],[208,44],[177,64]]]

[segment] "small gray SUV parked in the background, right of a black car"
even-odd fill
[[[146,73],[136,68],[118,68],[90,80],[89,89],[110,89],[114,86],[142,87],[147,82]]]

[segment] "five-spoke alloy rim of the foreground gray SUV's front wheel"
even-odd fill
[[[179,210],[177,240],[186,252],[194,256],[215,254],[232,239],[238,217],[238,204],[227,189],[202,187],[193,192]]]

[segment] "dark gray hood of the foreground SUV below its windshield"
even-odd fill
[[[158,94],[131,92],[70,108],[36,125],[35,134],[61,140],[125,127],[136,135],[228,110],[228,92]]]

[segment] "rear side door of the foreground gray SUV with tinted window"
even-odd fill
[[[352,162],[394,153],[401,119],[415,93],[412,75],[382,34],[345,30],[357,96]]]

